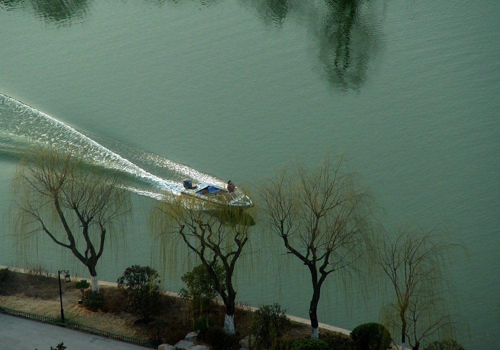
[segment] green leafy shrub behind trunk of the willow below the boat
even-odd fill
[[[215,264],[213,269],[219,281],[223,281],[225,278],[224,268]],[[215,283],[203,264],[194,266],[190,272],[184,273],[180,279],[186,283],[187,287],[187,289],[180,289],[180,295],[184,299],[191,300],[193,305],[200,308],[205,304],[209,308],[211,307],[211,300],[218,295],[219,291],[215,288]],[[221,289],[225,289],[225,284],[222,283]]]

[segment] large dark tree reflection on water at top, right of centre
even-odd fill
[[[281,28],[285,17],[298,18],[314,36],[321,74],[341,91],[358,91],[367,79],[377,46],[376,18],[365,0],[248,0],[267,25]]]

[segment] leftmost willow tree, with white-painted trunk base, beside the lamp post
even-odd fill
[[[118,174],[63,148],[40,147],[21,161],[12,186],[17,242],[48,236],[86,266],[92,290],[99,291],[96,265],[106,238],[130,212]]]

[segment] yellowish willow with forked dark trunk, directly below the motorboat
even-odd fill
[[[209,203],[200,204],[196,198],[166,195],[150,215],[151,230],[170,261],[177,261],[177,254],[187,259],[190,252],[206,268],[224,303],[224,330],[228,334],[235,332],[236,263],[245,254],[243,250],[249,245],[250,228],[254,224],[247,210],[214,207]],[[222,274],[218,272],[219,265],[223,267]]]

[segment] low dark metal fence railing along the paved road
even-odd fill
[[[14,310],[14,309],[3,307],[3,306],[0,306],[0,312],[11,314],[14,316],[34,319],[37,321],[58,325],[61,327],[82,330],[82,331],[86,331],[88,333],[101,335],[101,336],[105,336],[105,337],[116,339],[116,340],[126,341],[126,342],[137,344],[137,345],[154,347],[154,348],[157,348],[159,345],[159,343],[154,342],[154,341],[136,339],[136,338],[132,338],[132,337],[125,336],[125,335],[114,334],[114,333],[106,332],[104,330],[89,327],[89,326],[84,325],[84,324],[80,324],[80,323],[76,323],[76,322],[72,322],[72,321],[68,321],[68,320],[61,320],[60,318],[47,317],[47,316],[37,315],[34,313]]]

